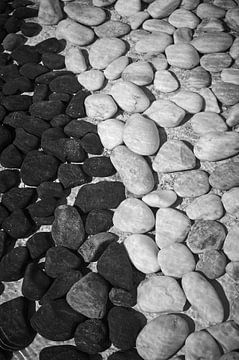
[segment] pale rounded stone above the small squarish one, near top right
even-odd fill
[[[189,29],[195,29],[200,23],[200,19],[193,12],[186,9],[174,10],[168,21],[176,28],[187,27]]]

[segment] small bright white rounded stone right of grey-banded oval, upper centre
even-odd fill
[[[172,92],[178,89],[179,83],[177,78],[168,70],[156,71],[154,77],[154,87],[161,92]]]

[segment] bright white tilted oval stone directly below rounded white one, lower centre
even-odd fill
[[[133,234],[124,240],[124,246],[133,265],[144,274],[160,270],[157,261],[159,248],[147,235]]]

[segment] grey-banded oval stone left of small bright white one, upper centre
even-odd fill
[[[150,64],[146,61],[137,61],[126,66],[121,78],[136,85],[144,86],[151,84],[154,73]]]

